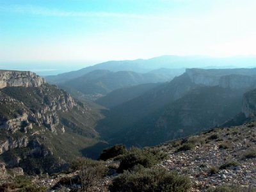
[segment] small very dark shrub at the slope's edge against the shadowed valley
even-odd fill
[[[126,152],[127,152],[127,150],[124,145],[122,145],[122,144],[114,145],[111,148],[104,149],[102,154],[100,154],[99,159],[106,161],[107,159],[111,159],[113,157],[123,155]]]

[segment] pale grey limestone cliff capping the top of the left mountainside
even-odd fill
[[[45,83],[45,79],[33,72],[0,70],[0,88],[6,86],[37,87]]]

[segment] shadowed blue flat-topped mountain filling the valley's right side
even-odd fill
[[[255,74],[255,68],[187,69],[105,110],[97,131],[110,143],[148,146],[218,127],[244,110],[243,94],[255,88]]]

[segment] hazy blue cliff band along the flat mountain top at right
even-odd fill
[[[250,69],[204,70],[201,68],[186,69],[191,81],[204,86],[221,86],[223,88],[255,88],[256,71]]]

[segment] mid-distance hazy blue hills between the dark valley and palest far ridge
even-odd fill
[[[106,95],[118,88],[125,88],[145,83],[159,83],[172,80],[173,76],[161,74],[140,74],[132,71],[111,72],[109,70],[93,70],[84,76],[58,84],[61,88],[75,95]]]

